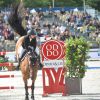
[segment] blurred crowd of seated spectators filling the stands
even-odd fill
[[[0,41],[18,40],[18,35],[8,23],[9,11],[0,12]],[[34,29],[45,40],[57,39],[65,41],[70,36],[84,36],[87,40],[100,37],[100,21],[83,11],[46,11],[29,10],[24,12],[23,27],[28,31]],[[0,45],[0,50],[3,50]]]

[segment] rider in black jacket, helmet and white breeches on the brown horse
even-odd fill
[[[26,52],[30,53],[32,51],[35,52],[37,46],[36,36],[37,36],[36,32],[33,29],[29,30],[28,35],[24,36],[23,42],[20,48],[18,49],[19,58],[18,58],[18,66],[16,67],[17,70],[19,70],[20,61],[24,57]],[[36,52],[35,54],[37,55]]]

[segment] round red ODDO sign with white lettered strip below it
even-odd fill
[[[44,67],[54,68],[64,66],[64,42],[49,40],[41,46],[41,57]]]

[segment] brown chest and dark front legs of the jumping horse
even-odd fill
[[[32,85],[31,85],[31,98],[34,100],[34,83],[37,77],[37,71],[38,71],[38,63],[36,62],[35,66],[32,66],[29,64],[29,55],[26,55],[24,60],[20,63],[22,77],[25,85],[25,94],[26,99],[28,99],[28,86],[27,86],[27,80],[31,77],[32,79]]]

